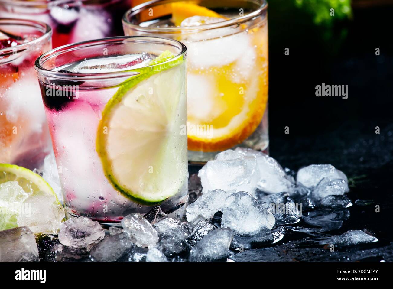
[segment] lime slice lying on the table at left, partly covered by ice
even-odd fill
[[[24,201],[34,208],[39,204],[31,204],[33,200],[42,202],[48,198],[55,207],[61,207],[55,192],[40,175],[20,166],[0,164],[0,230],[18,226],[18,206]]]

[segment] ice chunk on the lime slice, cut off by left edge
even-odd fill
[[[24,209],[22,202],[28,198],[18,182],[9,181],[0,184],[0,231],[17,227],[17,216]]]

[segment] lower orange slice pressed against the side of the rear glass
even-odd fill
[[[260,79],[247,79],[236,83],[228,79],[227,71],[234,64],[215,68],[212,72],[193,74],[211,79],[215,87],[206,91],[207,101],[200,100],[201,108],[189,101],[188,149],[191,151],[215,152],[230,149],[241,144],[258,127],[267,105],[267,86]],[[255,87],[256,86],[256,87]],[[191,85],[188,89],[193,89]],[[244,91],[244,94],[241,92]]]

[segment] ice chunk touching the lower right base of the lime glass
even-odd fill
[[[213,190],[204,193],[185,209],[187,221],[193,221],[198,215],[203,215],[206,219],[210,219],[222,208],[226,197],[229,195],[229,193],[223,190]]]

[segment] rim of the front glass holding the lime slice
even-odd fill
[[[127,39],[135,39],[135,40],[155,40],[156,43],[161,43],[161,44],[176,44],[172,46],[176,46],[180,49],[180,52],[175,55],[174,57],[168,59],[167,61],[158,63],[158,64],[153,64],[153,65],[148,65],[148,66],[143,66],[143,68],[149,68],[149,67],[156,67],[160,66],[165,63],[171,63],[172,61],[175,61],[179,57],[182,57],[182,55],[185,55],[187,52],[187,48],[185,45],[177,40],[174,39],[169,39],[169,38],[164,38],[164,37],[154,37],[154,36],[120,36],[120,37],[107,37],[107,38],[101,38],[101,39],[95,39],[95,40],[86,40],[83,42],[77,42],[77,43],[72,43],[72,44],[67,44],[63,45],[57,48],[54,48],[52,50],[49,50],[45,52],[44,54],[40,55],[34,63],[34,68],[37,71],[37,73],[40,76],[44,77],[51,77],[51,78],[56,78],[56,79],[64,79],[64,80],[72,80],[75,81],[76,79],[78,80],[105,80],[105,79],[113,79],[113,78],[118,78],[118,77],[130,77],[133,75],[138,75],[140,72],[140,68],[134,68],[130,70],[123,70],[123,71],[118,71],[118,72],[102,72],[102,73],[90,73],[90,74],[84,74],[84,73],[75,73],[75,72],[58,72],[58,71],[53,71],[53,70],[48,70],[44,67],[42,67],[42,63],[46,60],[48,60],[50,57],[57,56],[62,53],[67,53],[67,52],[72,52],[74,50],[77,50],[79,48],[86,48],[86,47],[91,47],[99,44],[108,44],[108,41],[110,43],[115,43],[118,41],[124,41]]]

